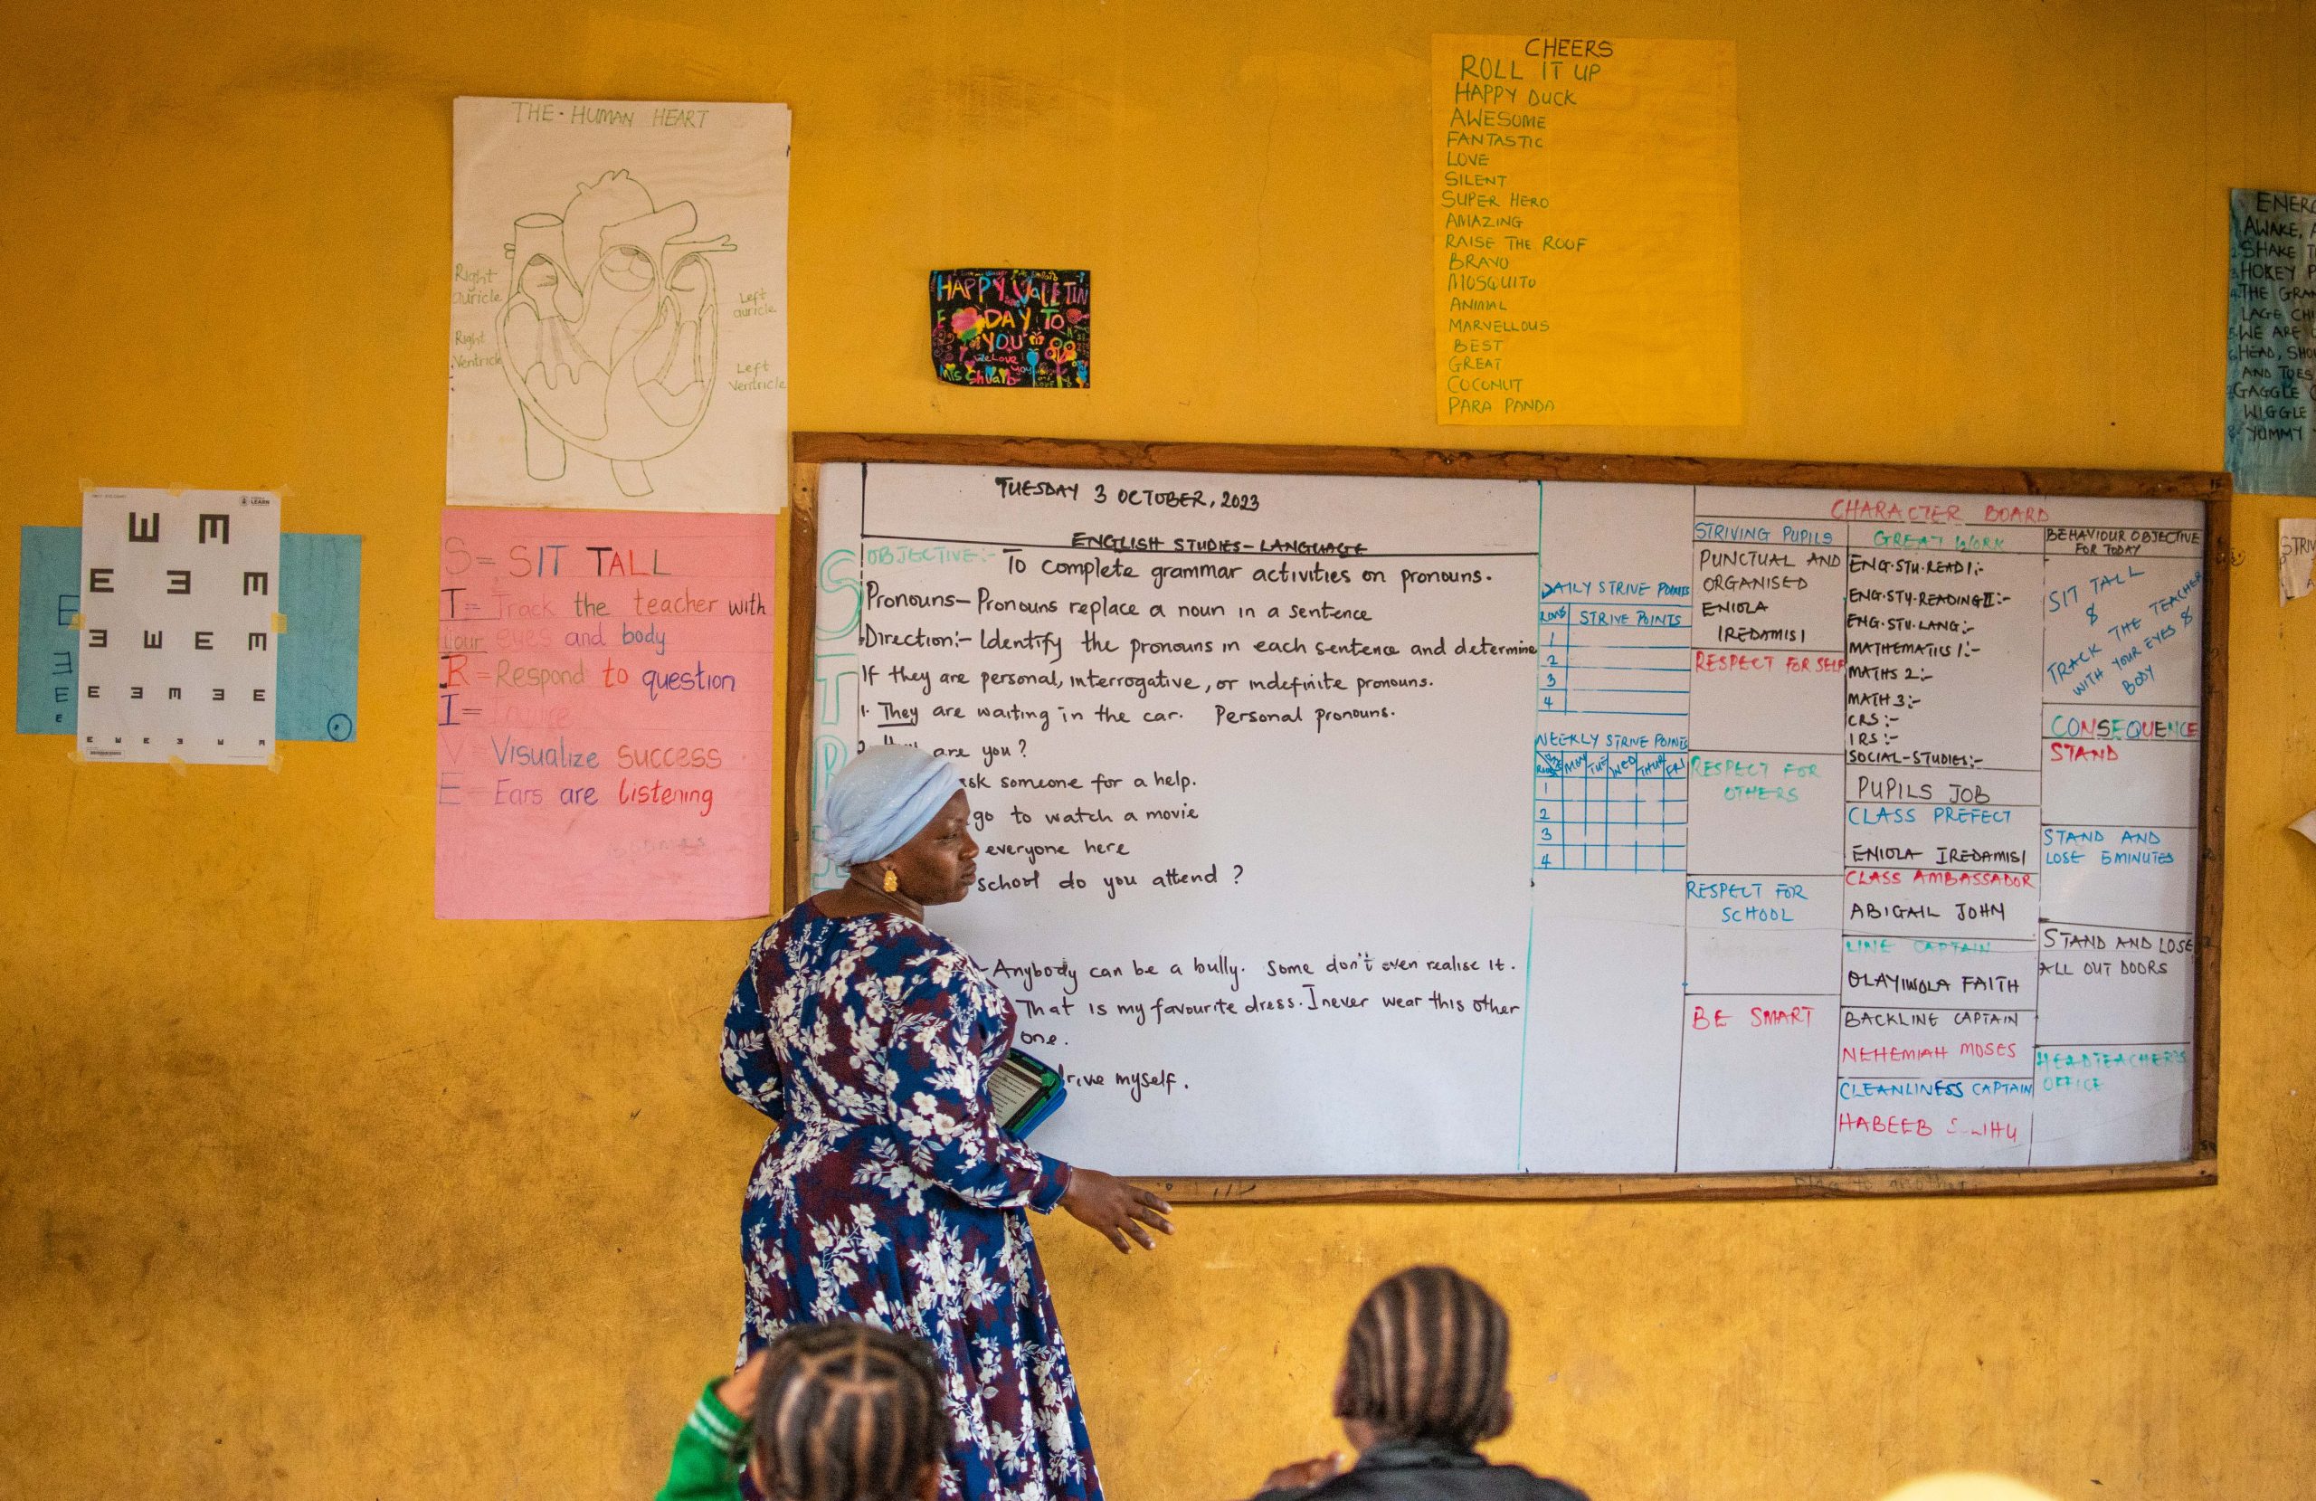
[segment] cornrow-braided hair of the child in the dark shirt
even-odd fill
[[[1473,1448],[1501,1432],[1512,1327],[1487,1288],[1450,1267],[1408,1267],[1350,1320],[1336,1418],[1390,1438]]]

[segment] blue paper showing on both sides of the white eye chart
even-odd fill
[[[72,734],[81,642],[81,528],[25,526],[16,595],[16,734]],[[283,533],[276,739],[354,739],[361,537]]]

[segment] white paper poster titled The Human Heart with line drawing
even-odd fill
[[[452,505],[787,503],[787,125],[456,102]]]

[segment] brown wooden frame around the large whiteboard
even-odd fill
[[[1753,1200],[1922,1193],[2103,1193],[2219,1181],[2219,938],[2228,774],[2228,537],[2233,482],[2200,470],[1962,468],[1943,463],[1800,463],[1651,454],[1121,442],[1095,438],[952,438],[938,433],[797,433],[787,533],[787,859],[783,908],[811,880],[813,632],[822,463],[975,463],[1012,468],[1186,470],[1223,475],[1383,475],[1415,479],[1593,479],[1610,484],[1756,484],[1969,496],[2089,496],[2203,503],[2203,822],[2196,866],[2196,1105],[2184,1163],[2105,1167],[1913,1167],[1827,1172],[1503,1172],[1441,1177],[1153,1177],[1174,1202],[1489,1202]]]

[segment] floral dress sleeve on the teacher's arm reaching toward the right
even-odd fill
[[[1070,1167],[998,1126],[968,1010],[954,959],[926,959],[901,973],[885,1049],[901,1147],[910,1167],[968,1205],[1026,1205],[1042,1214],[1061,1202]]]

